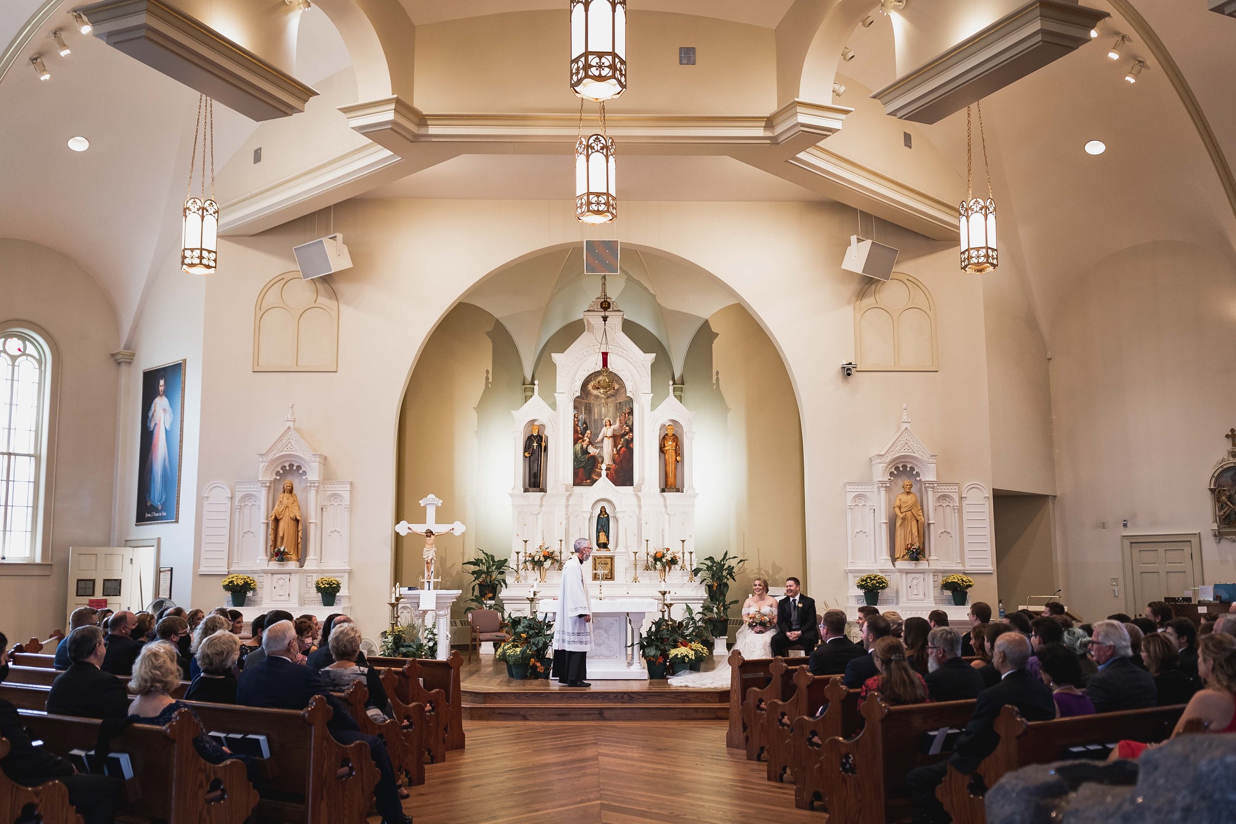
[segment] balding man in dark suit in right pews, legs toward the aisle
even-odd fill
[[[906,776],[906,787],[918,808],[915,824],[950,820],[936,798],[936,788],[944,781],[948,765],[953,765],[958,772],[970,775],[983,759],[995,751],[1000,742],[995,721],[1005,704],[1016,707],[1027,721],[1047,721],[1056,718],[1052,691],[1026,671],[1030,652],[1030,641],[1020,633],[1005,633],[996,639],[991,662],[1000,671],[1000,682],[979,694],[974,703],[974,714],[958,736],[953,755],[948,761],[916,767]]]

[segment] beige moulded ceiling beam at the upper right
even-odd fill
[[[1031,0],[871,96],[901,120],[934,124],[1090,42],[1106,11]]]

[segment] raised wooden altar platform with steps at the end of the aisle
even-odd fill
[[[709,668],[713,662],[707,665]],[[557,681],[515,681],[492,656],[460,670],[464,718],[471,720],[724,720],[729,688],[692,689],[658,681],[593,681],[588,688]]]

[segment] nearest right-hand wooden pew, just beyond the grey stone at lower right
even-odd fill
[[[1031,763],[1067,761],[1078,756],[1069,747],[1089,744],[1115,744],[1121,739],[1151,744],[1163,741],[1180,720],[1184,704],[1130,709],[1120,713],[1077,715],[1051,721],[1027,721],[1016,707],[1000,710],[995,730],[1000,744],[971,775],[952,766],[936,797],[953,817],[954,824],[986,824],[984,797],[1006,772]]]

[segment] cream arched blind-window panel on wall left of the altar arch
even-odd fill
[[[324,278],[276,275],[253,308],[253,372],[336,372],[339,300]]]

